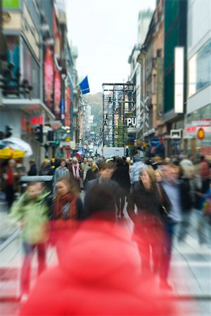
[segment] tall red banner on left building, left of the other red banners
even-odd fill
[[[52,110],[53,106],[53,56],[49,46],[46,48],[44,60],[44,100],[46,105]]]

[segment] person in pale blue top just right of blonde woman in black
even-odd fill
[[[167,277],[170,270],[173,235],[176,225],[182,220],[179,166],[175,166],[174,164],[165,165],[165,180],[162,182],[162,187],[169,197],[172,206],[164,223],[165,244],[162,252],[160,278],[162,279],[161,286],[163,288],[172,289],[167,282]]]

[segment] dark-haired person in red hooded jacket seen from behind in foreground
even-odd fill
[[[103,170],[110,178],[111,169]],[[139,253],[129,230],[115,224],[108,182],[94,193],[89,219],[65,242],[60,264],[39,278],[20,315],[179,315],[153,277],[140,282]]]

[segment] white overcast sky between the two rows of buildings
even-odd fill
[[[66,0],[69,39],[78,48],[77,71],[88,75],[91,93],[103,83],[126,82],[137,41],[140,10],[155,0]]]

